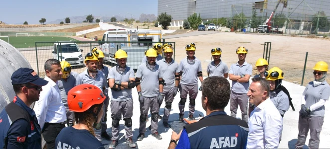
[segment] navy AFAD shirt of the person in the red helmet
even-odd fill
[[[55,149],[105,149],[88,130],[63,128],[55,140]]]

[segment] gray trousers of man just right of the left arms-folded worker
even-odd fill
[[[151,133],[156,133],[158,131],[158,113],[159,113],[159,103],[158,103],[158,96],[156,97],[144,97],[145,102],[142,104],[140,103],[140,112],[141,115],[148,116],[149,108],[151,108]],[[153,114],[155,117],[153,117]],[[156,114],[156,115],[155,115]],[[147,122],[141,122],[140,120],[140,128],[139,133],[146,132],[146,125]]]

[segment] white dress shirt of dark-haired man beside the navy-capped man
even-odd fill
[[[44,79],[48,81],[48,84],[42,86],[40,98],[35,104],[37,107],[34,108],[41,130],[46,122],[61,123],[66,120],[65,107],[61,100],[57,82],[47,76]]]

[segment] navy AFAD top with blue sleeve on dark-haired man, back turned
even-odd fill
[[[246,122],[215,111],[184,126],[175,149],[246,149],[248,133]]]

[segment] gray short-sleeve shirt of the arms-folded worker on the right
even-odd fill
[[[229,69],[228,74],[234,74],[234,75],[242,75],[242,74],[249,74],[252,75],[252,66],[248,64],[247,62],[244,62],[242,66],[240,66],[238,63],[232,64]],[[240,83],[237,81],[231,81],[231,90],[235,93],[247,93],[248,88],[250,86],[250,81]]]

